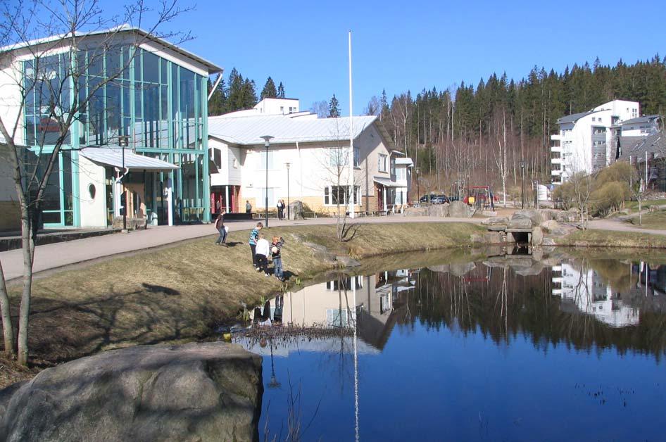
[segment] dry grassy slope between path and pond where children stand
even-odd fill
[[[325,246],[337,255],[368,258],[468,246],[470,235],[481,230],[463,223],[367,224],[358,225],[345,242],[337,241],[335,226],[279,227],[265,233],[286,240],[284,270],[293,284],[334,267],[315,258],[304,243]],[[208,334],[215,324],[236,317],[241,303],[255,305],[261,296],[282,289],[277,279],[252,267],[248,234],[232,232],[228,248],[215,246],[215,236],[210,236],[36,279],[32,355],[54,362]],[[19,291],[19,286],[11,288],[15,308]]]

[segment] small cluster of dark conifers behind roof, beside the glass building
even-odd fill
[[[276,86],[271,77],[268,77],[263,89],[261,89],[259,98],[257,98],[257,86],[254,80],[244,78],[236,68],[231,70],[227,80],[224,77],[220,78],[220,75],[218,74],[213,81],[210,78],[208,79],[209,94],[218,79],[220,80],[217,87],[215,87],[215,91],[213,91],[213,96],[208,101],[208,115],[222,115],[223,113],[234,112],[234,110],[253,108],[260,99],[284,99],[284,84],[279,82]]]

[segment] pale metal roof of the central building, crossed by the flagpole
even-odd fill
[[[377,120],[375,116],[353,118],[353,138]],[[252,146],[263,145],[264,135],[272,144],[348,141],[349,118],[291,118],[287,115],[248,115],[208,118],[208,134],[224,141]],[[383,134],[382,134],[383,135]]]

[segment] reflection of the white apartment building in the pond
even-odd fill
[[[639,323],[639,309],[627,305],[621,293],[613,293],[594,270],[562,263],[554,266],[552,272],[552,293],[562,298],[563,310],[579,310],[611,327]]]

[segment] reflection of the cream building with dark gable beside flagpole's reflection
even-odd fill
[[[413,290],[414,286],[410,270],[341,276],[294,293],[285,293],[282,323],[299,327],[351,329],[358,317],[360,339],[364,344],[381,350],[398,316],[406,312],[406,291]],[[270,317],[273,317],[276,300],[272,299],[269,303]],[[326,346],[324,341],[313,345]]]

